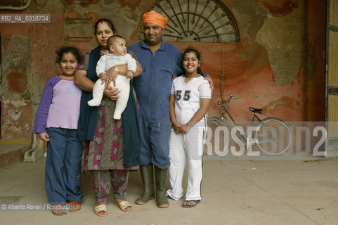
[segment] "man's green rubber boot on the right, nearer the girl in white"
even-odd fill
[[[155,183],[156,183],[156,203],[159,208],[169,207],[169,201],[165,192],[165,182],[167,181],[168,169],[160,169],[155,167]]]

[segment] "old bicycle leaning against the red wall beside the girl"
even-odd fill
[[[261,120],[257,114],[261,114],[263,112],[262,109],[250,107],[249,110],[254,113],[252,122],[247,129],[240,127],[227,110],[233,98],[239,99],[230,95],[228,100],[218,102],[218,105],[222,107],[221,117],[208,118],[205,140],[212,143],[212,150],[210,151],[210,145],[207,146],[204,143],[204,155],[227,153],[234,134],[235,141],[240,140],[247,147],[255,144],[266,155],[282,155],[290,148],[292,144],[291,127],[284,120],[277,117],[267,117]],[[248,130],[249,127],[250,129]],[[233,134],[231,131],[233,131]],[[220,138],[222,132],[223,139]],[[249,134],[250,136],[248,136]],[[238,136],[240,136],[240,139]],[[219,150],[220,146],[223,148],[222,150]]]

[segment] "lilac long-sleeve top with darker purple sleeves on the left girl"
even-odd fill
[[[82,91],[72,79],[51,77],[44,86],[34,122],[36,133],[46,132],[45,127],[77,129]]]

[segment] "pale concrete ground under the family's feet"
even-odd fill
[[[0,169],[0,200],[22,196],[19,203],[46,203],[44,165],[16,162]],[[124,213],[108,199],[108,217],[93,212],[90,175],[84,174],[82,210],[56,217],[44,210],[0,210],[1,224],[337,224],[338,160],[204,157],[202,202],[181,207],[169,200],[159,209],[155,200],[135,205],[141,194],[139,172],[129,178],[127,199],[133,212]],[[186,184],[186,183],[185,183]],[[3,203],[0,203],[1,205]]]

